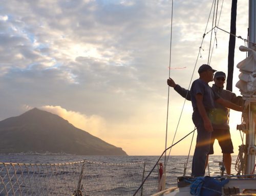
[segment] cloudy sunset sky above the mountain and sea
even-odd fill
[[[226,31],[230,2],[224,1],[221,9],[220,1],[218,7],[219,27]],[[171,88],[168,94],[166,80],[170,71],[176,83],[188,88],[190,80],[199,77],[198,68],[208,62],[210,33],[197,57],[211,5],[206,0],[174,1],[170,58],[171,1],[2,0],[0,120],[37,107],[128,155],[161,155],[166,135],[168,147],[194,129],[191,103],[184,104]],[[247,1],[238,2],[237,35],[243,38],[247,9]],[[228,39],[228,33],[217,31],[216,39],[212,37],[217,48],[210,60],[214,69],[226,73]],[[236,64],[245,58],[238,48],[244,44],[236,40],[233,92],[237,95]],[[234,154],[242,144],[236,130],[240,121],[241,113],[231,112]],[[191,138],[174,146],[170,155],[187,155]],[[191,154],[195,138],[196,134]],[[216,141],[215,155],[220,154]]]

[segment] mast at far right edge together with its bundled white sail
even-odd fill
[[[256,129],[256,1],[249,0],[249,47],[240,46],[239,49],[248,52],[248,57],[239,62],[239,81],[236,86],[240,89],[243,99],[246,101],[246,110],[243,112],[244,132],[246,134],[245,148],[246,164],[245,174],[254,174],[255,170],[255,129]]]

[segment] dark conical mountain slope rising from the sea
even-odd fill
[[[0,153],[65,153],[72,155],[126,155],[67,120],[34,108],[0,121]]]

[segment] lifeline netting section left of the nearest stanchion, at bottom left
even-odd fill
[[[82,163],[0,163],[0,195],[71,195]]]

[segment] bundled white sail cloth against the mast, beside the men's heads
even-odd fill
[[[236,86],[244,99],[256,99],[256,51],[244,46],[240,46],[239,49],[249,52],[249,55],[237,65],[241,73]]]

